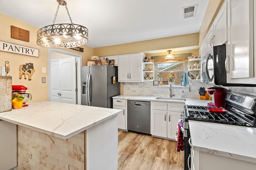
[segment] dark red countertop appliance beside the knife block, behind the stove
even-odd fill
[[[229,90],[223,87],[210,87],[206,90],[210,96],[212,96],[212,102],[208,103],[207,106],[212,107],[225,107],[225,96]]]

